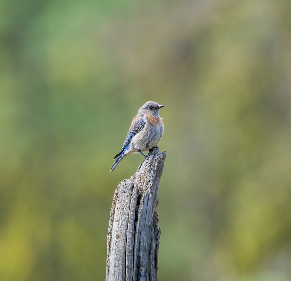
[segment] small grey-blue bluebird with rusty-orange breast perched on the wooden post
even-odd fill
[[[133,118],[123,147],[120,152],[113,158],[116,161],[110,168],[113,171],[121,159],[130,153],[141,153],[145,158],[148,155],[142,153],[156,146],[162,139],[164,134],[164,123],[159,116],[160,108],[157,102],[146,102]]]

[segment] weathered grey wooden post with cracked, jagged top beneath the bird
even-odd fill
[[[107,236],[106,281],[156,281],[161,230],[156,206],[166,152],[154,150],[115,190]]]

